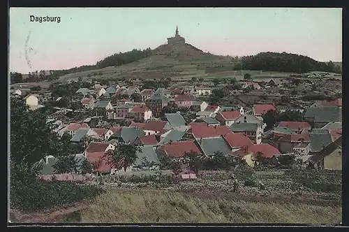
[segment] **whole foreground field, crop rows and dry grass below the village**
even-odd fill
[[[107,191],[61,222],[303,223],[341,222],[341,173],[239,172],[172,182],[166,175],[100,177]],[[265,187],[258,186],[262,182]],[[326,213],[323,213],[326,212]]]

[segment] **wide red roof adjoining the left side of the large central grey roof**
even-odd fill
[[[191,150],[197,154],[202,154],[193,140],[166,143],[158,149],[163,150],[170,157],[184,157],[184,154]]]

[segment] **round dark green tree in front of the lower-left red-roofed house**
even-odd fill
[[[141,152],[140,147],[127,143],[118,143],[114,150],[106,152],[105,157],[107,161],[114,166],[114,168],[121,169],[131,166],[137,159],[137,152]]]

